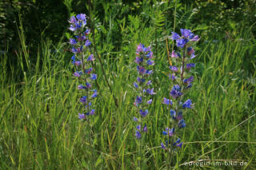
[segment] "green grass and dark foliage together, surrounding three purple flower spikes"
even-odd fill
[[[176,10],[175,10],[176,9]],[[198,160],[234,160],[256,168],[256,2],[103,1],[0,2],[0,169],[166,168],[161,149],[169,93],[169,51],[173,30],[200,36],[194,86],[187,94],[194,109],[180,135],[184,145],[175,168]],[[90,16],[94,30],[98,99],[94,103],[94,160],[86,142],[86,122],[78,120],[77,79],[70,63],[67,20]],[[167,40],[167,46],[166,46]],[[136,45],[152,45],[154,103],[150,107],[145,155],[138,158],[132,119],[136,113]],[[105,70],[106,83],[102,67]],[[116,98],[116,100],[114,99]],[[190,168],[198,169],[198,166]],[[201,167],[202,168],[202,167]],[[237,169],[235,166],[205,166]]]

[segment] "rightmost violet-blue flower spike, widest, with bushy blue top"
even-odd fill
[[[184,101],[184,94],[188,89],[192,87],[194,77],[190,76],[190,70],[195,66],[190,61],[196,57],[192,45],[194,42],[198,42],[198,35],[194,35],[191,30],[181,29],[181,34],[172,33],[172,40],[176,42],[179,52],[175,50],[171,53],[171,57],[174,59],[175,65],[170,65],[170,79],[173,82],[173,87],[170,89],[170,95],[168,98],[164,97],[162,104],[167,106],[170,111],[170,125],[171,128],[167,127],[162,134],[166,136],[167,140],[161,144],[163,149],[177,146],[182,148],[182,141],[175,133],[178,128],[185,128],[186,122],[183,118],[183,114],[186,109],[193,107],[192,101],[187,99]],[[184,102],[182,102],[184,101]],[[169,120],[168,120],[169,121]]]

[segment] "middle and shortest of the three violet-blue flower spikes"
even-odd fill
[[[142,132],[147,132],[146,123],[143,125],[143,119],[149,114],[148,105],[152,103],[152,95],[154,95],[154,88],[150,88],[152,81],[150,80],[150,75],[153,70],[150,70],[151,65],[154,65],[153,52],[150,46],[139,44],[136,49],[136,59],[138,77],[137,81],[134,82],[134,88],[138,92],[135,98],[134,105],[138,108],[138,113],[140,118],[134,117],[134,121],[139,125],[136,126],[135,136],[137,139],[142,137]],[[143,128],[142,128],[143,126]]]

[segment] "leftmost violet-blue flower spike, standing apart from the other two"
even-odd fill
[[[86,120],[86,116],[94,115],[95,109],[92,106],[92,101],[98,96],[97,89],[93,89],[97,74],[93,73],[94,55],[90,54],[89,49],[91,45],[88,38],[90,30],[86,29],[86,14],[72,16],[69,22],[69,29],[74,33],[74,38],[70,38],[71,52],[74,53],[71,62],[76,69],[74,77],[78,77],[80,81],[78,90],[83,93],[80,102],[83,105],[83,111],[85,111],[85,113],[78,113],[78,118]]]

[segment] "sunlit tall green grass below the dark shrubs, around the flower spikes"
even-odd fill
[[[107,6],[105,9],[110,11]],[[190,14],[190,9],[186,10]],[[99,95],[94,103],[96,115],[91,119],[93,153],[88,142],[89,128],[78,120],[81,111],[78,99],[82,93],[76,89],[78,81],[72,76],[74,68],[70,64],[71,53],[66,50],[69,48],[66,38],[58,44],[42,39],[38,53],[34,54],[37,59],[32,62],[26,36],[22,27],[18,28],[22,49],[16,52],[15,67],[20,69],[7,60],[8,53],[2,54],[0,67],[0,169],[92,169],[92,164],[96,169],[138,168],[132,122],[138,113],[133,106],[136,93],[132,85],[137,77],[134,52],[139,42],[153,47],[157,93],[149,109],[146,152],[142,159],[146,169],[166,168],[166,153],[159,145],[169,113],[161,102],[171,87],[166,36],[170,36],[174,24],[170,28],[160,5],[145,7],[143,11],[145,14],[129,15],[118,22],[122,37],[115,41],[113,27],[106,29],[95,19],[95,41],[113,92],[107,88],[102,69],[95,61]],[[111,14],[106,21],[113,20]],[[146,16],[153,18],[150,25],[142,22]],[[182,18],[177,19],[176,24],[184,26]],[[194,86],[187,94],[194,102],[194,109],[185,116],[186,128],[178,132],[184,145],[172,158],[176,163],[173,166],[188,169],[184,163],[190,161],[243,160],[248,164],[242,168],[255,169],[255,39],[250,30],[244,29],[234,30],[231,38],[206,41],[200,35],[201,30],[194,29],[201,42],[196,49]],[[21,81],[17,81],[17,75]],[[112,94],[118,99],[118,107]],[[241,167],[202,169],[207,168]]]

